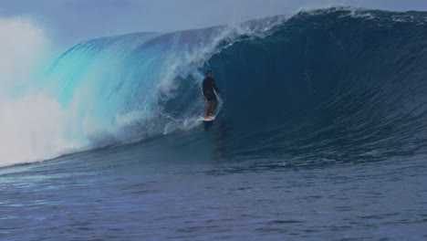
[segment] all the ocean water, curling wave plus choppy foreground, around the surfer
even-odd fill
[[[69,48],[0,113],[48,107],[0,161],[0,239],[427,239],[426,19],[329,8]],[[207,69],[224,98],[203,123]]]

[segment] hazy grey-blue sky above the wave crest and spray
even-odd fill
[[[0,20],[28,19],[58,47],[70,47],[94,37],[234,24],[337,5],[427,11],[426,0],[0,0]]]

